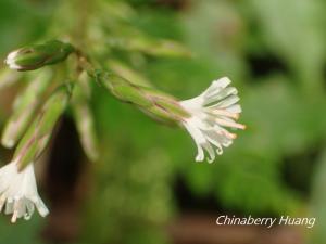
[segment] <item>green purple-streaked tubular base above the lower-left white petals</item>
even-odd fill
[[[18,162],[20,169],[35,162],[45,150],[58,119],[67,106],[72,90],[73,84],[59,87],[41,108],[15,151],[14,160]]]

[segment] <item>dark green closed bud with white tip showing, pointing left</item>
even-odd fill
[[[74,48],[59,40],[47,41],[15,50],[4,61],[11,69],[34,70],[46,65],[64,61]]]

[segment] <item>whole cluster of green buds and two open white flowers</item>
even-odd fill
[[[91,87],[88,84],[90,81],[96,80],[120,101],[137,106],[160,121],[185,127],[197,144],[197,162],[208,158],[212,163],[216,154],[223,153],[223,147],[233,143],[237,136],[227,128],[246,128],[236,121],[241,106],[238,104],[238,90],[229,86],[231,81],[227,77],[214,80],[200,95],[179,101],[151,86],[125,79],[105,69],[93,68],[86,55],[61,41],[18,49],[8,55],[5,63],[12,69],[34,70],[62,62],[73,52],[77,57],[77,81],[58,84],[38,111],[39,97],[47,94],[53,76],[45,75],[34,79],[25,92],[18,95],[15,111],[4,127],[2,145],[16,145],[16,150],[12,163],[0,168],[0,213],[3,209],[5,214],[12,215],[12,222],[18,218],[29,219],[35,208],[42,217],[49,213],[38,195],[34,162],[47,146],[54,126],[68,103],[73,107],[87,156],[92,160],[98,158],[95,121],[88,107],[90,93],[87,91]],[[36,112],[39,113],[33,119]]]

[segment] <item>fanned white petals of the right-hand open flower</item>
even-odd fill
[[[204,160],[204,150],[209,153],[209,163],[215,159],[215,151],[220,155],[223,146],[227,147],[237,137],[224,127],[244,129],[246,126],[236,123],[239,118],[241,106],[238,91],[227,87],[231,81],[227,78],[214,80],[200,95],[181,101],[180,105],[190,114],[183,125],[186,127],[198,147],[197,162]],[[214,150],[215,147],[215,150]]]

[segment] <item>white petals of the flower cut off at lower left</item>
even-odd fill
[[[24,217],[28,220],[35,207],[45,217],[49,214],[47,206],[39,197],[34,174],[34,164],[29,164],[21,172],[16,162],[0,168],[0,213],[11,215],[11,221]]]

